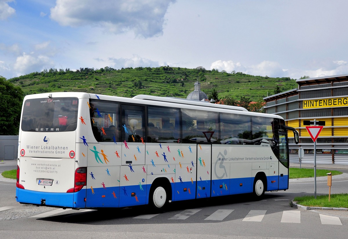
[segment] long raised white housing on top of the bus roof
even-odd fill
[[[197,106],[220,108],[220,109],[248,111],[247,109],[243,107],[239,107],[239,106],[219,105],[219,104],[212,104],[206,101],[188,100],[188,99],[173,98],[173,97],[148,96],[146,94],[139,94],[137,96],[134,96],[133,99],[153,100],[153,101],[171,102],[171,103],[184,104],[184,105],[197,105]]]

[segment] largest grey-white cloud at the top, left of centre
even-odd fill
[[[163,33],[164,15],[175,0],[57,0],[50,17],[63,26],[103,27],[112,33],[133,30],[145,38]]]

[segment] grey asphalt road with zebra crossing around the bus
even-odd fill
[[[15,165],[0,164],[0,171]],[[14,206],[0,211],[0,238],[346,238],[348,212],[291,207],[295,196],[313,195],[314,181],[290,181],[288,190],[267,192],[260,201],[250,195],[190,200],[172,203],[158,215],[146,207],[55,211],[23,206],[14,200],[15,183],[0,181],[5,192],[0,193],[0,210]],[[347,185],[347,176],[333,179],[331,192],[347,192]],[[328,187],[319,179],[317,194],[321,193],[327,194]]]

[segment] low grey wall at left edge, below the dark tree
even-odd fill
[[[18,135],[0,135],[0,161],[17,159]]]

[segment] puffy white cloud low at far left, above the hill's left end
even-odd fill
[[[16,62],[13,65],[13,70],[16,74],[25,75],[31,72],[40,72],[45,68],[54,67],[53,61],[44,55],[35,56],[34,53],[26,54],[17,57]]]

